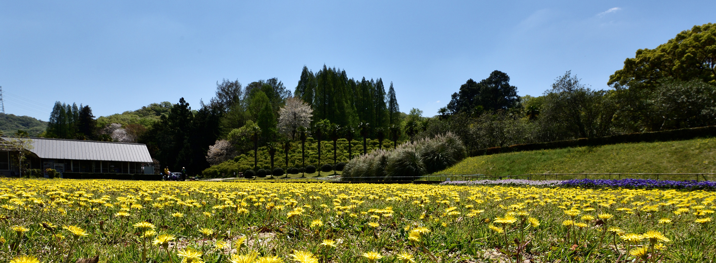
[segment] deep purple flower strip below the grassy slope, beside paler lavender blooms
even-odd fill
[[[561,183],[562,187],[611,187],[611,188],[659,188],[659,189],[716,189],[714,181],[667,181],[654,179],[572,179]]]

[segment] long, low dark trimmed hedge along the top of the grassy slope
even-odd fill
[[[539,142],[535,144],[515,144],[508,147],[492,147],[470,152],[470,156],[501,154],[505,152],[523,152],[569,147],[601,146],[608,144],[624,144],[630,142],[669,142],[694,139],[698,137],[716,137],[716,126],[705,126],[686,129],[672,129],[661,132],[639,132],[619,134],[607,137],[580,138],[555,142]]]

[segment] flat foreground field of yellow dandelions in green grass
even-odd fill
[[[0,262],[713,262],[716,192],[0,179]]]

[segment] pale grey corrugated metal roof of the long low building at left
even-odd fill
[[[11,139],[11,138],[3,138]],[[95,142],[70,139],[31,138],[30,152],[42,159],[72,159],[115,162],[152,162],[145,144]]]

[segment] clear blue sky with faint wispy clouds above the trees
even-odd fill
[[[401,111],[435,115],[468,79],[499,70],[538,96],[571,70],[594,89],[637,49],[716,22],[716,1],[0,1],[8,114],[54,101],[95,116],[208,101],[216,81],[301,68],[393,82]]]

